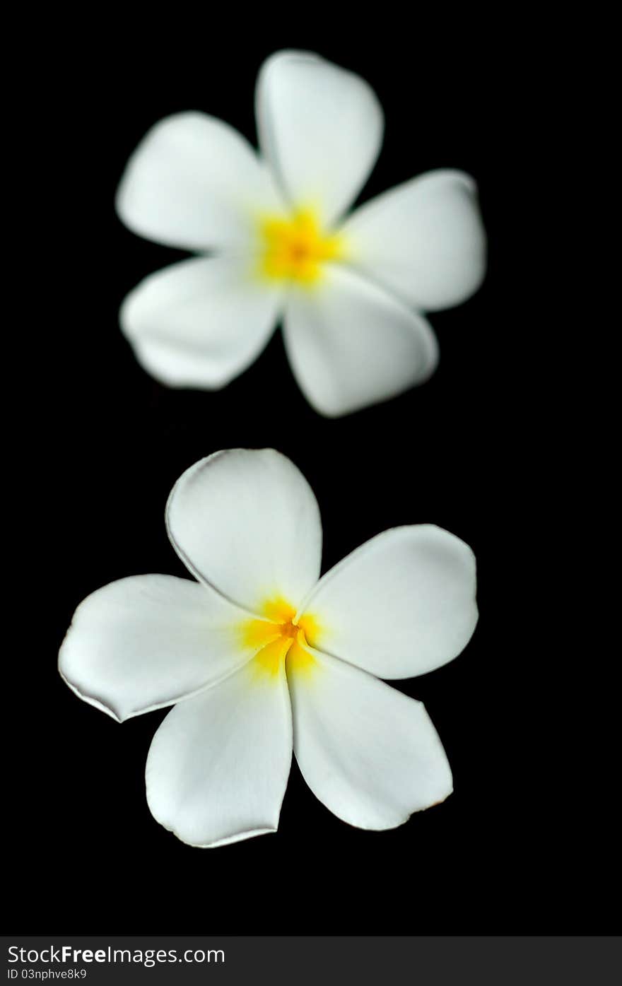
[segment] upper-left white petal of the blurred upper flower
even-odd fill
[[[152,127],[116,194],[116,211],[130,230],[184,249],[245,245],[257,210],[281,207],[268,169],[242,135],[198,112]]]

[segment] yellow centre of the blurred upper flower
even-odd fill
[[[311,209],[286,219],[264,216],[259,220],[259,233],[260,273],[269,280],[309,287],[321,278],[326,260],[342,259],[345,252],[343,236],[324,233]]]

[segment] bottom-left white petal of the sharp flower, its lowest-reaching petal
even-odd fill
[[[292,759],[285,674],[247,666],[181,702],[147,758],[147,801],[193,846],[275,831]]]

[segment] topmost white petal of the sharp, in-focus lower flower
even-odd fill
[[[198,579],[253,612],[277,598],[296,608],[317,581],[317,502],[273,449],[217,452],[190,466],[173,487],[167,527]]]

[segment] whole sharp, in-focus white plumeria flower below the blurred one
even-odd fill
[[[454,658],[477,620],[475,560],[441,528],[394,528],[319,577],[317,503],[272,449],[191,466],[167,505],[198,583],[113,582],[76,610],[59,669],[118,721],[173,705],[151,744],[147,800],[184,842],[275,831],[292,759],[361,828],[443,801],[451,773],[421,702],[375,675]]]

